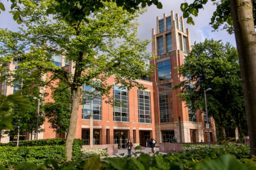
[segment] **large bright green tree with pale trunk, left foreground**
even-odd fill
[[[145,10],[141,8],[131,14],[115,3],[102,2],[104,8],[86,16],[89,23],[81,20],[71,24],[63,20],[59,13],[48,18],[46,10],[52,3],[59,4],[56,1],[20,2],[23,4],[19,9],[20,16],[27,29],[20,28],[20,32],[16,33],[1,29],[0,55],[5,63],[17,56],[23,57],[23,62],[19,63],[18,70],[10,71],[3,78],[7,84],[22,79],[27,86],[33,83],[33,86],[40,88],[52,87],[52,82],[59,79],[67,83],[72,96],[65,141],[69,161],[82,94],[89,100],[103,96],[102,99],[108,99],[107,103],[115,104],[110,95],[113,84],[106,82],[110,76],[114,76],[115,83],[122,84],[128,90],[134,86],[145,89],[137,79],[141,79],[142,75],[150,76],[154,68],[148,64],[152,56],[146,51],[150,40],[137,38],[137,17]],[[73,71],[55,66],[52,57],[57,55],[64,55],[66,61],[75,63]],[[31,74],[26,74],[30,71]],[[44,75],[47,75],[46,79]],[[95,91],[82,91],[82,84],[93,87]]]

